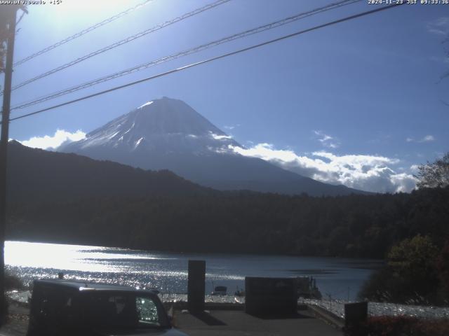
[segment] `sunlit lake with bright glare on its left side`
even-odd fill
[[[382,260],[217,253],[167,253],[126,248],[5,242],[6,268],[25,283],[55,278],[119,283],[187,293],[188,260],[206,260],[206,293],[244,288],[245,276],[313,276],[323,297],[354,300]]]

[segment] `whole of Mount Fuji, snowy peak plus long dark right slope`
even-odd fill
[[[163,97],[93,130],[86,139],[62,144],[58,151],[142,169],[169,169],[218,190],[313,196],[363,193],[248,158],[230,146],[242,147],[185,102]]]

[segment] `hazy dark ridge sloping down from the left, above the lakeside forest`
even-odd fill
[[[188,196],[212,192],[168,171],[148,172],[116,162],[32,149],[17,141],[9,143],[8,195],[11,201]]]

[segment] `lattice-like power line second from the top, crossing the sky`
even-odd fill
[[[192,11],[189,12],[189,13],[185,13],[185,14],[183,14],[183,15],[181,15],[181,16],[178,16],[177,18],[174,18],[173,20],[169,20],[169,21],[163,22],[161,25],[154,26],[154,27],[149,28],[149,29],[146,29],[146,30],[144,30],[144,31],[140,31],[140,33],[138,33],[138,34],[135,34],[135,35],[133,35],[133,36],[129,36],[129,37],[127,37],[127,38],[124,38],[124,39],[121,40],[121,41],[118,41],[118,42],[116,42],[116,43],[112,43],[111,45],[107,45],[107,47],[105,47],[105,48],[101,48],[101,49],[95,50],[94,52],[91,52],[91,53],[88,54],[88,55],[84,55],[84,56],[82,56],[82,57],[79,57],[79,58],[77,58],[77,59],[74,59],[72,62],[63,64],[63,65],[61,65],[61,66],[58,66],[58,67],[56,67],[56,68],[54,68],[54,69],[51,69],[51,70],[45,72],[45,73],[41,73],[40,75],[38,75],[38,76],[36,76],[36,77],[30,78],[30,79],[28,79],[28,80],[25,80],[24,82],[22,82],[22,83],[20,83],[20,84],[18,84],[18,85],[13,86],[13,88],[12,88],[11,90],[16,90],[16,89],[18,89],[19,87],[23,87],[23,86],[28,85],[29,83],[32,83],[32,82],[34,82],[34,81],[36,81],[36,80],[39,80],[39,79],[44,78],[44,77],[46,77],[46,76],[50,76],[50,75],[53,74],[53,73],[56,73],[56,72],[61,71],[61,70],[64,70],[64,69],[67,69],[69,66],[73,66],[73,65],[75,65],[75,64],[78,64],[79,62],[85,61],[86,59],[89,59],[89,58],[94,57],[94,56],[96,56],[96,55],[100,55],[100,54],[102,54],[103,52],[106,52],[106,51],[108,51],[108,50],[111,50],[111,49],[114,49],[114,48],[116,48],[116,47],[119,47],[120,45],[123,45],[123,44],[125,44],[125,43],[129,43],[130,41],[134,41],[136,38],[140,38],[140,37],[142,37],[142,36],[145,36],[145,35],[147,35],[147,34],[150,34],[150,33],[154,32],[154,31],[158,31],[159,29],[162,29],[162,28],[164,28],[164,27],[173,25],[173,24],[175,24],[176,22],[185,20],[185,19],[190,18],[190,17],[192,17],[192,16],[194,16],[194,15],[197,15],[197,14],[199,14],[199,13],[203,13],[203,12],[206,11],[206,10],[215,8],[216,6],[220,6],[220,5],[222,5],[223,3],[227,3],[227,2],[229,2],[229,1],[231,1],[231,0],[218,0],[218,1],[215,1],[215,2],[213,2],[213,3],[209,3],[209,4],[206,5],[206,6],[203,6],[203,7],[200,7],[200,8],[196,8],[195,10],[192,10]]]

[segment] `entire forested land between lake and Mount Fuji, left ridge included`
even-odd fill
[[[406,238],[449,236],[449,155],[410,194],[309,197],[203,188],[10,142],[7,239],[164,251],[384,258]]]

